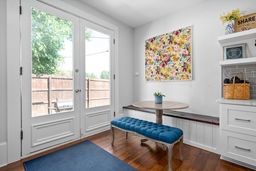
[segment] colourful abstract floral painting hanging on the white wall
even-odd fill
[[[191,26],[145,40],[145,80],[192,80]]]

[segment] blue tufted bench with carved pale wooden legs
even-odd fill
[[[127,139],[127,132],[143,137],[144,139],[154,141],[166,145],[168,151],[168,167],[169,171],[172,171],[172,147],[175,143],[179,143],[180,161],[182,161],[181,147],[183,143],[183,131],[176,127],[170,127],[159,123],[153,123],[136,119],[133,117],[121,117],[111,121],[111,134],[114,144],[114,127],[125,132],[125,138]],[[141,140],[145,142],[145,140]]]

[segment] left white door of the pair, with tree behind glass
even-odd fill
[[[80,138],[80,42],[78,17],[36,0],[21,5],[24,156]]]

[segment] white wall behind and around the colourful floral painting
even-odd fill
[[[252,14],[256,12],[255,6],[255,0],[205,0],[135,28],[133,72],[139,72],[139,76],[134,76],[133,80],[134,101],[154,100],[153,93],[159,90],[166,95],[164,100],[180,101],[190,106],[181,111],[219,117],[219,106],[215,101],[221,97],[218,62],[223,57],[217,37],[225,33],[219,17],[236,8]],[[174,4],[170,11],[172,8],[180,6]],[[145,82],[145,40],[186,26],[192,26],[192,80]]]

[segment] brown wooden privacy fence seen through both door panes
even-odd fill
[[[86,78],[85,106],[96,107],[110,104],[110,87],[108,79]],[[56,101],[73,100],[73,77],[32,75],[32,116],[56,113]]]

